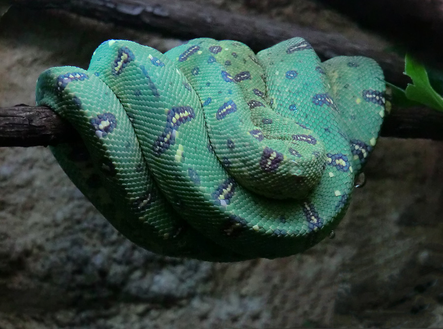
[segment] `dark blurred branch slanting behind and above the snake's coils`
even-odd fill
[[[263,16],[241,15],[181,0],[9,0],[29,8],[62,9],[105,22],[163,35],[189,39],[213,37],[246,43],[253,50],[267,48],[291,37],[304,37],[324,60],[338,55],[362,55],[375,59],[386,79],[406,86],[404,62],[380,44],[349,40],[337,33],[316,31]],[[361,1],[357,1],[361,2]]]

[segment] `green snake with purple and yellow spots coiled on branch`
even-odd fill
[[[145,249],[209,261],[290,256],[327,236],[384,94],[375,61],[322,63],[299,37],[257,54],[210,38],[165,54],[108,40],[88,70],[51,68],[36,86],[37,105],[81,135],[51,149],[105,218]]]

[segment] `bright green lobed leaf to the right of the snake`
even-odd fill
[[[405,95],[408,99],[443,111],[443,97],[432,88],[425,67],[409,54],[405,57],[405,74],[411,77],[413,83],[408,83],[406,87]]]

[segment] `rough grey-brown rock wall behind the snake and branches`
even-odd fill
[[[307,0],[210,2],[361,35]],[[0,106],[34,104],[40,72],[87,67],[109,38],[160,51],[180,42],[10,8],[0,18]],[[442,163],[442,143],[380,139],[334,239],[302,255],[213,264],[127,241],[48,149],[0,148],[0,329],[443,327]]]

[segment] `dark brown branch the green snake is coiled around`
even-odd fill
[[[393,108],[384,120],[381,136],[443,141],[442,126],[443,112]],[[0,147],[57,145],[79,139],[74,128],[49,108],[0,108]]]

